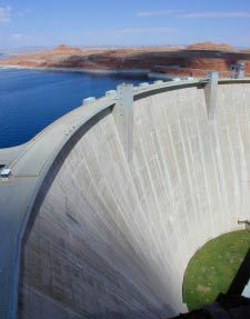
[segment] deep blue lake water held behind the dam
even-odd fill
[[[101,97],[140,77],[0,69],[0,148],[29,141],[48,124],[78,108],[83,98]]]

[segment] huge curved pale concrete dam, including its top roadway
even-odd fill
[[[170,318],[250,219],[250,80],[122,86],[0,161],[0,318]]]

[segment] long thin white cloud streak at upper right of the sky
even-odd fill
[[[250,12],[244,11],[231,11],[231,12],[180,12],[171,10],[158,10],[158,11],[139,11],[137,17],[149,18],[160,16],[172,16],[179,18],[209,18],[209,19],[230,19],[230,18],[250,18]]]

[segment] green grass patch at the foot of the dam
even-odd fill
[[[189,310],[212,303],[226,293],[250,248],[250,232],[234,231],[207,242],[192,257],[183,280]]]

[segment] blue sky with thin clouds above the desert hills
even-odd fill
[[[250,48],[250,0],[0,0],[0,49],[158,46]]]

